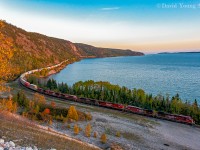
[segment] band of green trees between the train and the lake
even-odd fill
[[[193,103],[184,102],[179,97],[179,94],[171,98],[169,95],[162,96],[159,94],[153,96],[152,94],[145,93],[142,89],[131,90],[124,86],[120,87],[119,85],[110,84],[109,82],[94,82],[92,80],[79,81],[73,86],[68,86],[66,83],[57,83],[54,79],[50,79],[44,87],[81,97],[133,105],[155,111],[189,115],[197,124],[200,124],[200,108],[197,100],[195,99]]]

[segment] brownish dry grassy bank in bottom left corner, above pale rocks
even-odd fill
[[[40,129],[30,122],[19,120],[12,115],[0,113],[0,137],[14,141],[21,146],[37,146],[41,149],[97,150],[80,140],[68,139],[65,135]]]

